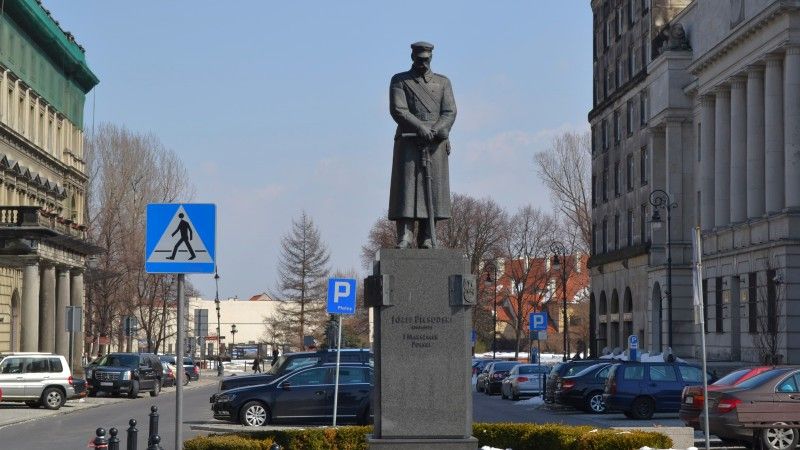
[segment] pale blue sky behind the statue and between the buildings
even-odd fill
[[[454,192],[549,208],[533,155],[588,127],[588,0],[44,4],[100,78],[87,131],[94,117],[153,132],[183,158],[195,200],[218,204],[222,297],[274,288],[302,210],[332,268],[363,273],[388,202],[389,78],[410,66],[411,42],[432,42],[433,70],[453,83]],[[192,282],[213,297],[210,276]]]

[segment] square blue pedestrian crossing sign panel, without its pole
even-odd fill
[[[214,273],[217,207],[151,203],[145,225],[147,273]]]

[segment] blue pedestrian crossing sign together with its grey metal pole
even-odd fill
[[[186,337],[187,273],[214,273],[217,207],[210,203],[151,203],[147,205],[144,268],[147,273],[177,274],[178,336],[175,359],[183,365]],[[175,373],[175,446],[183,448],[183,370]],[[150,443],[148,443],[149,445]]]

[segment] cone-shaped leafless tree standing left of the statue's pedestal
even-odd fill
[[[278,314],[285,321],[286,332],[295,336],[298,348],[304,348],[303,336],[318,332],[325,323],[328,249],[322,242],[314,221],[305,212],[292,221],[292,229],[281,242],[278,266]]]

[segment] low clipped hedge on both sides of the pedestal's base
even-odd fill
[[[284,450],[366,450],[372,427],[261,430],[201,436],[184,443],[184,450],[269,450],[277,442]],[[524,423],[476,423],[480,445],[513,450],[635,450],[670,448],[660,433],[594,429],[587,426]]]

